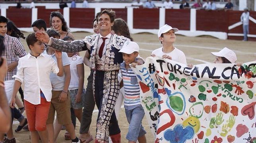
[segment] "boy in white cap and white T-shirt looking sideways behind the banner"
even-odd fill
[[[187,64],[185,54],[173,46],[173,43],[176,41],[175,32],[178,32],[178,29],[172,28],[167,24],[159,28],[157,35],[163,47],[155,49],[151,56],[160,56],[182,64]]]

